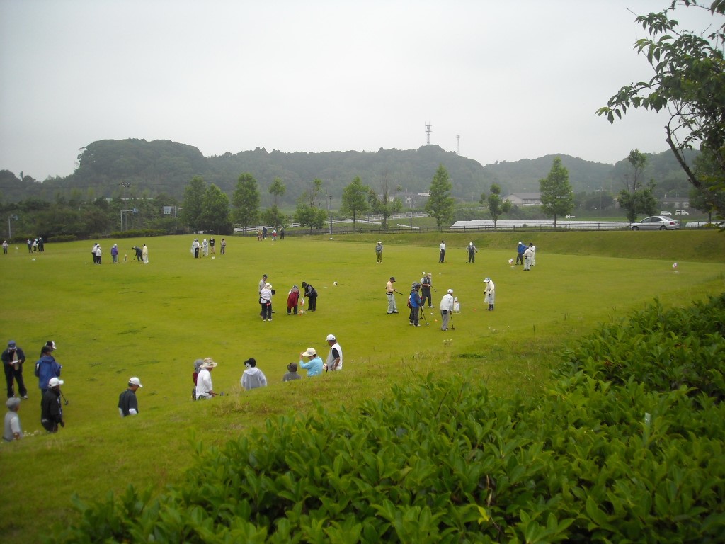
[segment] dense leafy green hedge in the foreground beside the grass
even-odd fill
[[[655,304],[602,327],[539,397],[427,376],[356,413],[268,421],[198,446],[163,495],[78,502],[49,541],[721,542],[724,312]]]

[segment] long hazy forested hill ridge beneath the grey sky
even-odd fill
[[[655,174],[684,179],[667,155],[670,154],[650,156],[652,173],[645,173],[647,179]],[[602,187],[617,191],[629,167],[624,158],[617,165],[608,165],[564,154],[559,156],[569,170],[575,192]],[[391,189],[399,186],[402,191],[427,191],[439,164],[450,173],[453,196],[476,202],[481,192],[488,192],[493,183],[501,186],[503,194],[538,191],[539,179],[547,176],[553,157],[482,166],[436,145],[407,150],[320,153],[268,152],[257,148],[204,157],[196,147],[168,140],[99,140],[83,148],[78,168],[65,178],[36,182],[29,176],[21,180],[8,170],[0,170],[0,202],[18,202],[31,197],[53,200],[57,194],[70,197],[74,193],[84,199],[123,194],[138,197],[167,194],[181,199],[184,187],[194,176],[202,176],[207,183],[216,184],[231,194],[239,174],[249,172],[259,182],[262,194],[266,194],[274,178],[281,178],[286,186],[281,199],[284,205],[294,203],[314,178],[320,178],[324,189],[334,195],[340,195],[355,176],[378,191],[385,183]]]

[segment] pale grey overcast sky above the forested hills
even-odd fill
[[[595,110],[651,77],[633,12],[669,3],[0,0],[0,169],[67,176],[101,139],[207,157],[417,149],[427,123],[483,165],[661,152],[665,118]]]

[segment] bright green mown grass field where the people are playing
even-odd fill
[[[270,416],[316,410],[315,403],[354,408],[416,374],[466,371],[499,395],[535,390],[561,347],[595,323],[655,297],[687,305],[725,290],[725,237],[714,231],[477,234],[470,239],[479,247],[475,265],[465,263],[470,235],[444,235],[444,264],[437,262],[439,234],[384,236],[382,265],[372,236],[379,235],[229,237],[227,255],[196,260],[191,236],[104,240],[100,266],[91,263],[91,242],[0,255],[0,341],[14,339],[25,350],[30,391],[20,410],[26,437],[0,447],[12,497],[0,506],[4,541],[38,541],[52,524],[72,519],[73,493],[94,500],[131,483],[162,490],[183,477],[199,443],[222,443]],[[539,248],[529,274],[508,263],[521,238]],[[110,263],[114,242],[128,262]],[[130,260],[130,247],[141,242],[149,245],[149,265]],[[435,309],[427,310],[428,326],[410,327],[405,296],[397,295],[400,314],[386,315],[388,277],[407,294],[423,271],[433,273],[434,306],[455,290],[455,331],[439,330]],[[278,293],[266,323],[257,305],[262,273]],[[482,302],[484,276],[497,286],[493,313]],[[286,293],[302,281],[318,289],[318,311],[287,316]],[[286,364],[307,347],[326,356],[329,333],[343,347],[344,371],[282,383]],[[69,400],[67,425],[54,435],[41,432],[32,372],[48,339],[57,343]],[[192,363],[204,357],[218,361],[212,379],[227,395],[194,403]],[[241,392],[249,357],[270,382],[264,390]],[[117,397],[130,376],[144,384],[141,413],[120,419]]]

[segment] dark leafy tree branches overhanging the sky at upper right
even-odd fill
[[[718,22],[711,30],[684,30],[670,17],[676,7],[708,9],[695,0],[673,0],[662,12],[639,15],[635,20],[650,34],[634,46],[645,54],[654,71],[650,81],[631,83],[619,89],[606,107],[597,110],[610,123],[631,107],[637,110],[667,110],[666,141],[689,182],[700,190],[725,191],[725,25]],[[725,1],[713,1],[713,16],[725,14]],[[713,170],[708,180],[697,175],[686,160],[685,151],[699,146],[709,154]],[[725,215],[722,199],[711,198],[720,215]]]

